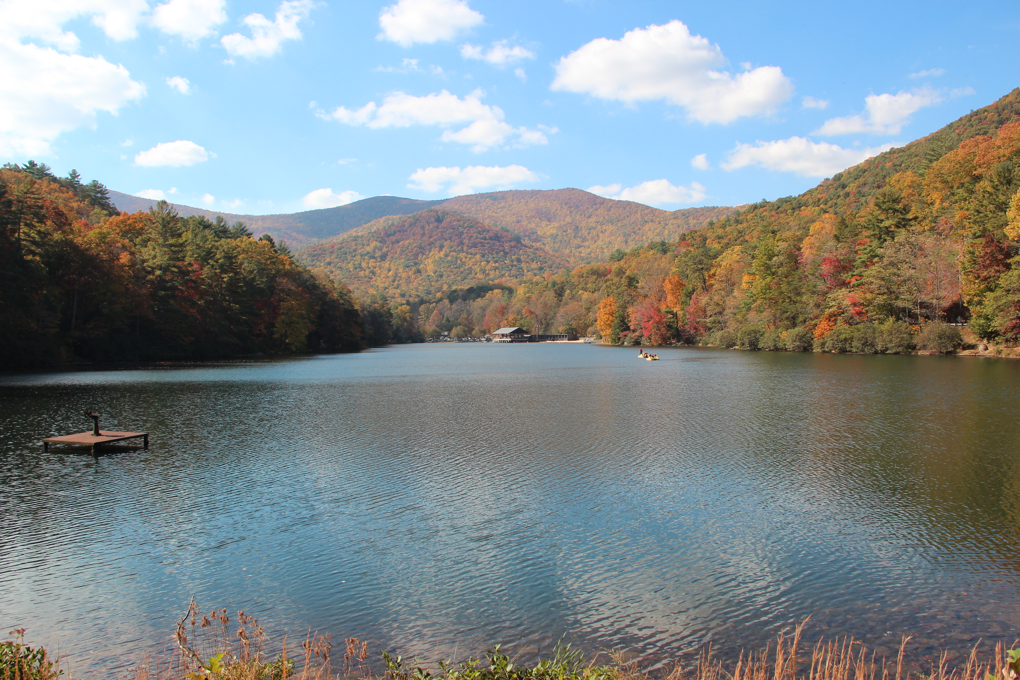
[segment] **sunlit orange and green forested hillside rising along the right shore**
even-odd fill
[[[909,352],[1020,341],[1020,90],[799,197],[673,243],[427,301],[417,322],[607,342]],[[446,328],[443,328],[446,329]]]

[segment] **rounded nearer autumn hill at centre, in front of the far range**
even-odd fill
[[[501,278],[559,271],[567,263],[505,229],[449,210],[429,208],[377,219],[298,251],[356,293],[391,298],[430,296]]]

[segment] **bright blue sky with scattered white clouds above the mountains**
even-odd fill
[[[237,213],[800,193],[1020,85],[1013,2],[2,0],[0,159]]]

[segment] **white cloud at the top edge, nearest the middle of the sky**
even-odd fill
[[[382,33],[377,38],[401,47],[453,40],[484,18],[468,7],[465,0],[400,0],[379,12]]]

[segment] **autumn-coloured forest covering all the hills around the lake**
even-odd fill
[[[502,192],[296,252],[165,203],[120,213],[75,171],[7,164],[3,361],[346,352],[506,325],[749,350],[1015,347],[1018,190],[1020,90],[797,197],[680,219],[578,190]],[[590,204],[572,236],[566,217],[550,227],[565,201]]]

